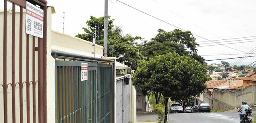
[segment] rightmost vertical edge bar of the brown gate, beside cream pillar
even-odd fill
[[[45,0],[45,6],[44,6],[44,20],[43,20],[43,116],[44,116],[44,122],[47,123],[47,88],[46,88],[46,62],[47,62],[47,1]]]

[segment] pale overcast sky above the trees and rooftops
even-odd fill
[[[256,1],[255,0],[120,0],[130,6],[140,9],[152,16],[160,18],[184,30],[190,30],[209,40],[230,39],[239,37],[256,36]],[[62,32],[63,11],[65,11],[64,33],[76,35],[83,33],[86,21],[90,16],[104,16],[104,0],[48,0],[48,6],[55,7],[56,13],[52,15],[52,30]],[[150,40],[157,34],[159,28],[166,31],[175,27],[147,16],[116,0],[109,0],[109,16],[114,18],[114,25],[123,27],[123,34],[142,36]],[[198,36],[197,42],[206,41]],[[244,41],[256,41],[256,37]],[[239,39],[225,40],[233,41]],[[241,39],[240,39],[241,40]],[[215,41],[219,42],[219,41]],[[225,43],[236,43],[225,42]],[[204,42],[211,43],[211,42]],[[211,44],[202,44],[214,45]],[[237,49],[233,50],[225,46]],[[198,47],[199,55],[206,60],[242,57],[244,52],[249,52],[256,47],[256,42],[228,44],[225,46]],[[241,51],[244,52],[241,52]],[[239,55],[221,55],[239,54]],[[256,55],[256,54],[254,54]],[[250,64],[255,57],[247,58],[240,64]],[[226,60],[235,62],[234,59]],[[214,61],[209,63],[220,63]]]

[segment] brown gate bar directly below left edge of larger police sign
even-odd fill
[[[26,34],[26,102],[27,102],[27,122],[30,123],[30,97],[29,97],[29,35]]]

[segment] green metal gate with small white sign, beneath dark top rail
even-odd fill
[[[55,58],[56,122],[113,123],[114,61],[53,52]],[[71,61],[70,61],[71,59]],[[81,81],[81,64],[88,80]]]

